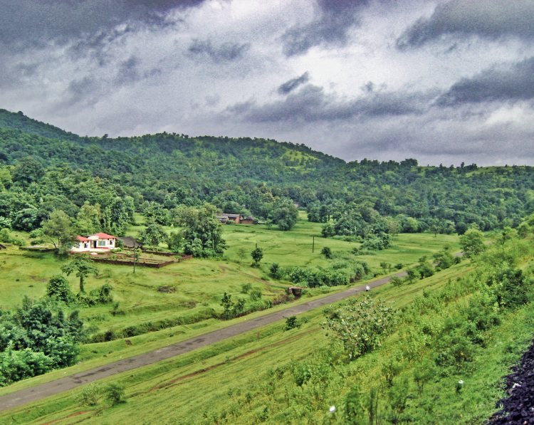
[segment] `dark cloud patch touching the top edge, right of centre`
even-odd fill
[[[286,56],[306,53],[320,44],[347,43],[347,33],[359,22],[357,11],[367,0],[318,0],[318,16],[304,26],[293,26],[282,36]]]

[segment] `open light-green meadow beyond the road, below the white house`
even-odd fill
[[[130,234],[137,233],[140,228],[137,226]],[[373,271],[380,274],[381,261],[407,266],[417,262],[420,256],[431,256],[445,245],[458,249],[457,236],[401,234],[394,237],[393,246],[387,250],[377,251],[373,256],[353,256],[350,250],[357,243],[321,238],[318,236],[320,224],[310,223],[302,217],[295,228],[287,232],[267,229],[263,225],[226,225],[223,229],[228,249],[222,261],[194,258],[160,269],[138,267],[135,274],[131,266],[97,263],[100,273],[97,277],[88,278],[86,290],[110,283],[114,303],[118,303],[118,314],[111,314],[112,305],[100,305],[82,309],[81,316],[93,327],[93,332],[120,331],[146,322],[202,316],[213,310],[219,312],[225,292],[234,298],[247,298],[241,293],[242,285],[246,284],[261,290],[263,299],[274,300],[290,285],[269,278],[268,265],[274,262],[281,266],[327,267],[338,258],[357,258],[367,261]],[[311,252],[313,236],[316,236],[314,253]],[[256,243],[263,248],[261,268],[251,267],[250,252]],[[332,248],[332,260],[320,254],[323,246]],[[45,295],[48,279],[61,273],[61,266],[66,261],[68,259],[57,258],[51,253],[19,251],[16,248],[0,251],[0,308],[14,308],[23,295],[30,298]],[[77,290],[77,278],[69,276],[68,280]],[[158,292],[162,286],[172,287],[175,292]],[[314,288],[308,290],[308,295],[336,289]]]

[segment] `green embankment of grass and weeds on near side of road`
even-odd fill
[[[396,325],[352,360],[324,327],[342,303],[61,394],[30,416],[11,411],[9,421],[482,423],[534,333],[531,243],[511,238],[473,265],[373,291]],[[124,388],[124,402],[108,401],[106,382]],[[94,406],[87,392],[102,394]]]

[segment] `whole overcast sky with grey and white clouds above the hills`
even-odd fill
[[[534,1],[0,0],[0,107],[79,135],[534,165]]]

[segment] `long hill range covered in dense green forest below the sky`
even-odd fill
[[[28,158],[29,157],[29,158]],[[214,203],[269,218],[273,205],[300,204],[310,219],[348,220],[373,229],[394,219],[402,231],[464,231],[515,226],[534,211],[532,167],[419,167],[414,159],[346,163],[304,145],[274,140],[188,137],[79,137],[0,110],[0,219],[38,226],[53,209],[76,216],[130,196],[169,211]],[[381,227],[383,229],[384,226]],[[357,233],[357,232],[356,232]]]

